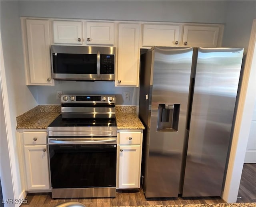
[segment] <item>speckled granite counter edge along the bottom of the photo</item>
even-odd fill
[[[122,206],[131,207],[131,206]],[[132,207],[256,207],[256,203],[179,204],[179,205],[138,205]]]

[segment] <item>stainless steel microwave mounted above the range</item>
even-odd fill
[[[114,81],[115,47],[51,45],[52,79]]]

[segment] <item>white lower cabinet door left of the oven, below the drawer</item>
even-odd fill
[[[24,146],[27,190],[49,189],[49,169],[46,145]]]

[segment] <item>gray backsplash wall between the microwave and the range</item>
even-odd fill
[[[34,87],[34,86],[32,86]],[[114,81],[55,81],[54,86],[38,86],[38,104],[60,104],[56,91],[63,94],[114,94],[117,105],[138,105],[138,87],[115,87]],[[123,92],[130,92],[130,101],[124,101]]]

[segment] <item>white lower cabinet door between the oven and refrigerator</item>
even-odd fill
[[[118,188],[140,188],[140,145],[120,145],[118,152]]]

